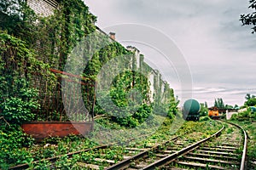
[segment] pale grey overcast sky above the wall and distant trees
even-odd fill
[[[213,105],[242,105],[247,93],[256,94],[256,35],[241,26],[240,14],[252,12],[246,0],[84,0],[97,18],[96,26],[117,33],[124,46],[129,31],[115,26],[132,23],[148,26],[166,35],[183,54],[193,81],[193,98]],[[146,33],[145,33],[146,34]],[[145,35],[152,37],[152,35]],[[129,37],[128,37],[129,38]],[[160,70],[178,97],[184,89],[183,73],[165,66],[161,52],[136,41],[129,45],[145,54],[149,65]]]

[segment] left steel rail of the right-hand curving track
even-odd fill
[[[175,161],[178,156],[183,156],[184,154],[188,153],[189,151],[195,150],[200,144],[208,141],[209,139],[212,139],[212,138],[218,136],[223,130],[224,130],[224,125],[222,125],[222,128],[217,133],[212,134],[212,136],[210,136],[206,139],[201,139],[201,141],[199,141],[195,144],[189,145],[188,147],[184,148],[183,150],[179,150],[170,156],[166,156],[166,157],[160,159],[159,161],[155,161],[154,163],[151,163],[150,165],[148,165],[147,167],[143,167],[142,169],[148,170],[148,169],[155,169],[155,167],[163,167],[163,166],[171,163],[172,161]]]

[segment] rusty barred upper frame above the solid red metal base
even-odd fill
[[[96,82],[55,69],[50,69],[50,72],[53,74],[32,77],[32,88],[38,90],[40,105],[35,111],[35,121],[93,121]]]

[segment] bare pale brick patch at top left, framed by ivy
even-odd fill
[[[49,16],[58,8],[58,3],[55,0],[27,0],[27,4],[36,14],[41,16]]]

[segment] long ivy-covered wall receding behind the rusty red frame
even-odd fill
[[[95,111],[94,113],[90,112],[90,114],[108,114],[114,122],[133,127],[137,123],[143,122],[150,115],[152,106],[161,106],[163,107],[161,111],[167,111],[170,103],[175,103],[173,90],[169,88],[166,82],[161,80],[158,71],[154,71],[144,62],[143,54],[140,54],[137,48],[123,47],[119,42],[109,38],[108,34],[97,28],[95,26],[96,16],[90,14],[89,8],[83,1],[58,1],[57,6],[55,5],[56,2],[52,3],[54,5],[49,3],[53,2],[51,0],[19,0],[17,2],[19,3],[15,6],[4,2],[3,5],[0,5],[1,7],[7,7],[2,8],[3,12],[0,11],[0,18],[4,18],[0,21],[1,30],[22,40],[26,44],[26,48],[33,51],[32,59],[36,59],[34,62],[46,65],[45,68],[73,73],[65,67],[67,62],[79,64],[82,63],[81,60],[88,59],[91,54],[91,59],[84,66],[84,70],[77,75],[86,77],[79,83],[94,82],[97,85],[96,88],[86,86],[82,88],[86,92],[83,91],[83,99],[87,108],[92,109],[90,106],[94,102],[93,98],[96,95],[96,90],[100,91],[101,96],[103,96],[103,104],[97,99]],[[44,5],[42,8],[48,8],[51,4],[49,11],[52,11],[52,8],[57,8],[55,8],[53,14],[47,12],[48,14],[40,16],[35,14],[35,12],[40,13],[37,11],[37,4]],[[28,5],[31,5],[30,7],[35,11]],[[9,13],[9,8],[16,8],[17,13]],[[94,35],[91,40],[83,42],[84,37],[90,37],[91,35]],[[68,58],[68,56],[72,56],[73,49],[78,47],[83,48],[84,51],[81,58]],[[94,50],[95,48],[97,50]],[[3,62],[6,61],[3,59]],[[71,64],[70,66],[72,66]],[[21,63],[20,65],[26,67]],[[58,78],[60,75],[38,69],[31,72],[38,73],[36,78],[32,77],[27,81],[34,88],[40,87],[38,88],[38,101],[44,100],[40,105],[41,111],[44,111],[45,108],[49,109],[51,104],[61,105],[63,101],[61,101],[61,80]],[[42,75],[44,75],[43,79]],[[38,79],[43,84],[37,82]],[[133,89],[137,89],[141,93],[140,99],[137,98],[137,94],[132,93]],[[130,95],[128,98],[127,94]],[[107,102],[109,96],[111,101],[120,108],[134,105],[137,110],[136,114],[125,118],[117,118],[114,116],[116,111],[109,108],[110,105]],[[56,101],[56,98],[60,100]],[[74,97],[73,101],[77,99],[79,98]],[[77,104],[72,103],[72,105]],[[63,117],[60,108],[62,106],[53,108],[47,113],[49,114],[47,117],[50,118],[45,119],[43,117],[42,119],[60,120]],[[108,111],[106,111],[106,108]],[[78,111],[75,112],[79,114]]]

